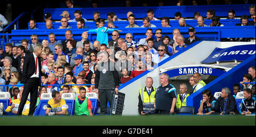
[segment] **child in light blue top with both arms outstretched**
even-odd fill
[[[108,32],[113,32],[114,30],[118,31],[118,29],[110,29],[107,27],[104,27],[105,20],[100,19],[99,20],[99,27],[96,29],[89,29],[88,32],[96,32],[97,38],[96,40],[100,42],[100,44],[106,44],[108,45],[109,38],[108,38]]]

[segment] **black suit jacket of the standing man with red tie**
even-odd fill
[[[39,79],[40,76],[42,75],[41,71],[41,60],[40,57],[38,56],[38,68],[39,68]],[[22,79],[20,80],[20,83],[26,83],[26,81],[35,73],[35,59],[33,54],[26,54],[24,58],[24,63],[23,63],[23,69],[22,69]],[[41,80],[39,80],[39,86],[41,85]]]

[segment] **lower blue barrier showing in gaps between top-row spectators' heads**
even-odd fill
[[[249,19],[249,21],[250,20],[252,20],[252,19]],[[185,22],[188,25],[191,25],[193,27],[196,27],[198,25],[197,20],[185,20]],[[136,20],[134,23],[139,25],[140,27],[143,25],[142,20]],[[156,25],[156,27],[162,27],[161,20],[152,20],[150,23]],[[212,20],[205,19],[204,23],[207,24],[207,25],[210,25],[210,23],[212,23]],[[235,26],[237,23],[241,23],[241,22],[240,22],[240,19],[221,19],[220,23],[224,24],[225,26]],[[77,24],[76,22],[68,22],[68,25],[70,25],[72,28],[77,28],[76,24]],[[129,25],[129,22],[127,20],[126,21],[117,21],[117,22],[114,22],[114,24],[118,28],[125,28],[127,25]],[[30,25],[30,23],[28,23],[28,28],[30,28],[29,25]],[[87,25],[90,29],[95,29],[96,28],[95,22],[85,22],[85,25]],[[170,25],[172,27],[179,27],[179,20],[170,20]],[[53,22],[52,23],[52,28],[54,28],[54,29],[57,29],[60,26],[61,26],[60,22]],[[104,26],[108,27],[108,21],[105,21]],[[38,28],[38,29],[47,29],[46,28],[46,23],[37,22],[36,23],[36,28]]]

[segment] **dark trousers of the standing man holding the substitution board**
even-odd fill
[[[98,95],[100,98],[100,107],[101,107],[100,114],[105,115],[107,114],[108,101],[109,101],[110,107],[112,106],[114,89],[98,89]]]

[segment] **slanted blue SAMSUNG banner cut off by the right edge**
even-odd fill
[[[201,63],[244,61],[255,54],[255,44],[232,46],[230,48],[215,48],[213,52]]]

